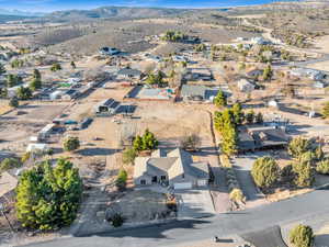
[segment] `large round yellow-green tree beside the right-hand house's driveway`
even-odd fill
[[[280,178],[280,167],[271,157],[258,158],[251,169],[254,183],[260,188],[270,188]]]

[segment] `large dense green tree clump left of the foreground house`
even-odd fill
[[[16,187],[16,214],[23,227],[57,229],[76,218],[82,180],[67,159],[49,161],[25,170]]]

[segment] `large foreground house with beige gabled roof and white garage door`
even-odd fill
[[[136,186],[169,184],[174,189],[205,187],[209,180],[207,162],[193,162],[192,156],[181,148],[167,155],[162,149],[150,157],[137,157],[134,167]]]

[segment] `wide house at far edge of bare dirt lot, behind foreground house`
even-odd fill
[[[218,91],[202,85],[183,85],[181,97],[184,101],[213,101]]]

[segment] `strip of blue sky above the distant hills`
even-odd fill
[[[223,8],[260,4],[273,0],[0,0],[0,9],[26,12],[52,12],[71,9],[94,9],[104,5],[164,7],[164,8]]]

